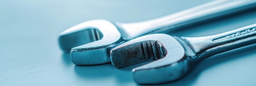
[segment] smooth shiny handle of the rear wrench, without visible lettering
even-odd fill
[[[131,40],[141,35],[158,33],[164,30],[172,31],[183,25],[231,14],[255,6],[256,0],[217,0],[157,19],[137,23],[115,24],[122,37],[126,40]]]

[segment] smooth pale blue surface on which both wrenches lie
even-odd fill
[[[57,36],[92,19],[139,22],[212,0],[0,0],[0,86],[134,86],[131,70],[75,66]],[[176,36],[207,36],[256,23],[256,9],[192,25]],[[188,76],[163,85],[255,86],[256,44],[210,57]]]

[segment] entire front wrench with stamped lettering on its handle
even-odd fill
[[[111,50],[112,64],[125,67],[156,60],[132,70],[139,84],[177,80],[210,56],[256,43],[256,24],[207,37],[151,34],[132,39]]]

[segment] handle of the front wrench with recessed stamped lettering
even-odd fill
[[[199,61],[256,43],[256,24],[207,37],[180,37]],[[199,57],[199,58],[197,58]]]

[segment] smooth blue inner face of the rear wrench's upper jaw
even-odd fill
[[[71,48],[91,43],[103,38],[102,33],[95,28],[83,28],[75,32],[62,32],[59,36],[60,48],[70,53]]]

